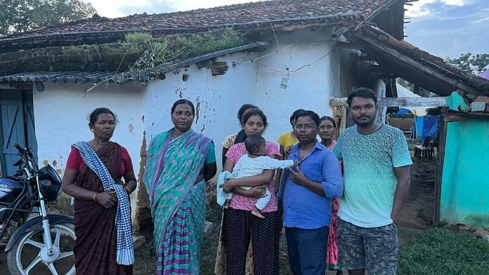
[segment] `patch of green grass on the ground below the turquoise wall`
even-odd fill
[[[429,229],[400,248],[398,274],[487,274],[489,243],[467,233]]]

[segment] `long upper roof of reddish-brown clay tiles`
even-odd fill
[[[135,14],[123,18],[95,16],[29,32],[11,34],[1,41],[56,34],[124,32],[134,30],[181,30],[197,32],[220,27],[268,27],[271,22],[285,25],[318,22],[361,22],[383,6],[403,0],[272,0],[216,8],[159,14]]]

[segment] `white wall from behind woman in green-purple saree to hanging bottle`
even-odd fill
[[[153,135],[172,127],[170,108],[180,98],[191,100],[196,107],[199,105],[199,119],[193,129],[214,140],[219,166],[220,143],[227,135],[240,130],[236,113],[244,103],[263,109],[269,123],[264,136],[273,142],[291,130],[289,116],[295,109],[331,115],[330,98],[341,97],[340,52],[331,33],[332,28],[280,33],[281,51],[275,44],[260,53],[234,53],[218,58],[217,61],[228,62],[230,67],[224,75],[211,76],[209,69],[192,65],[178,74],[167,74],[167,79],[153,81],[143,96],[148,144]],[[263,40],[275,41],[275,38]],[[237,63],[234,67],[233,62]],[[304,65],[309,66],[299,69]],[[285,67],[292,72],[287,88],[283,89],[280,81]],[[182,80],[183,74],[188,74],[187,81]]]

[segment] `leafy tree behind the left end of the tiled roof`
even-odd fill
[[[95,8],[81,0],[0,0],[0,35],[89,18]]]

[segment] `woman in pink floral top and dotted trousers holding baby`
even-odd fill
[[[247,136],[263,135],[266,127],[266,116],[261,109],[250,109],[244,113],[242,128]],[[266,142],[268,156],[273,159],[281,157],[278,146],[273,142]],[[232,172],[240,157],[247,154],[244,142],[237,143],[229,148],[226,154],[226,163],[223,170]],[[279,246],[280,246],[280,213],[275,198],[275,185],[273,175],[275,170],[264,170],[259,175],[230,179],[223,184],[226,192],[233,193],[229,208],[224,209],[223,243],[226,251],[226,274],[249,274],[247,263],[253,263],[254,274],[278,274],[279,272]],[[263,187],[262,185],[265,185]],[[249,190],[237,188],[238,186],[256,186]],[[252,215],[258,198],[270,192],[270,201],[261,210],[265,218]],[[252,259],[247,258],[249,243],[252,243]],[[218,258],[218,263],[220,263]],[[221,262],[222,263],[222,262]]]

